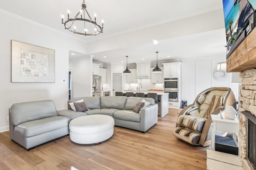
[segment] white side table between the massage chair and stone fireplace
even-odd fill
[[[211,149],[215,150],[215,133],[216,131],[226,131],[233,133],[233,139],[236,142],[236,134],[238,134],[239,121],[238,119],[223,119],[220,118],[220,115],[211,115],[212,117],[212,137],[211,137]],[[236,143],[238,146],[238,143]]]

